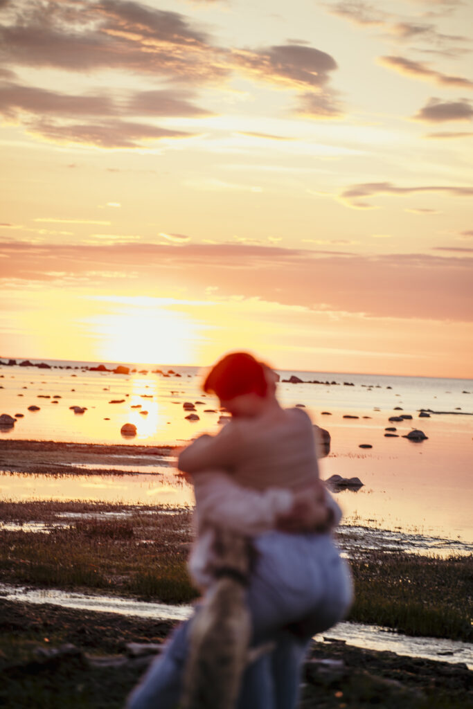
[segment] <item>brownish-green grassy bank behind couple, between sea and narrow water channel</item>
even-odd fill
[[[116,514],[119,511],[123,516]],[[71,514],[82,516],[64,516]],[[42,522],[48,531],[1,532],[0,581],[5,583],[166,603],[187,603],[197,595],[186,570],[188,511],[0,503],[0,518],[23,523],[25,530],[33,520]],[[67,526],[54,526],[57,523]],[[355,581],[350,620],[385,625],[406,635],[472,640],[472,557],[363,552],[350,564]]]

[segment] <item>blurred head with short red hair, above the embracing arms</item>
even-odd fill
[[[249,352],[226,354],[214,364],[204,381],[204,391],[214,393],[235,416],[255,415],[274,395],[277,374]]]

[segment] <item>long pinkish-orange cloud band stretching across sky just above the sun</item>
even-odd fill
[[[112,245],[33,245],[0,243],[0,268],[16,281],[55,284],[50,274],[67,272],[87,286],[89,272],[111,274],[90,279],[94,292],[113,287],[126,292],[126,273],[137,274],[143,291],[185,287],[201,299],[211,284],[222,297],[243,294],[286,306],[366,313],[367,316],[468,320],[471,316],[473,259],[451,255],[360,256],[344,252],[285,249],[250,244],[192,244],[179,248],[149,243]],[[113,280],[113,274],[123,278]],[[111,286],[109,286],[111,284]],[[438,294],[442,293],[442,298]]]

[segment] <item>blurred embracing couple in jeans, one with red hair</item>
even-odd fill
[[[301,408],[280,406],[278,379],[251,354],[235,352],[204,382],[231,415],[218,435],[200,436],[179,455],[179,469],[194,482],[197,538],[189,570],[204,601],[131,693],[129,709],[179,705],[185,675],[199,671],[198,661],[189,665],[199,613],[207,617],[204,608],[216,603],[225,576],[244,588],[250,645],[261,649],[242,668],[238,709],[294,709],[311,637],[350,607],[350,574],[331,533],[340,508],[318,474],[317,459],[328,450]]]

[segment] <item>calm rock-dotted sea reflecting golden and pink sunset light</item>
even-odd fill
[[[23,418],[13,429],[1,431],[0,445],[5,438],[184,445],[201,432],[219,428],[217,403],[201,392],[202,373],[196,367],[140,364],[140,372],[123,375],[89,372],[85,367],[96,364],[91,362],[43,361],[52,369],[1,367],[0,413],[23,413]],[[116,366],[104,364],[107,369]],[[161,369],[162,374],[152,374],[152,369]],[[295,374],[304,380],[279,384],[284,406],[305,406],[313,422],[330,431],[332,452],[321,463],[321,476],[358,476],[364,483],[357,493],[338,495],[350,523],[473,542],[472,380],[338,372],[280,374],[282,379]],[[314,380],[322,384],[309,383]],[[194,403],[199,420],[185,418],[185,401]],[[31,405],[39,406],[39,411],[28,411]],[[87,410],[77,414],[70,406]],[[421,408],[440,413],[419,418]],[[396,414],[413,418],[390,423],[389,417]],[[136,425],[135,438],[121,436],[124,423]],[[399,437],[385,437],[386,427],[395,427]],[[414,443],[404,438],[413,428],[421,428],[427,440]],[[192,502],[191,488],[173,482],[169,471],[160,474],[150,462],[137,471],[142,474],[129,480],[84,476],[84,481],[48,481],[50,476],[41,476],[35,477],[34,484],[32,476],[4,473],[0,496]]]

